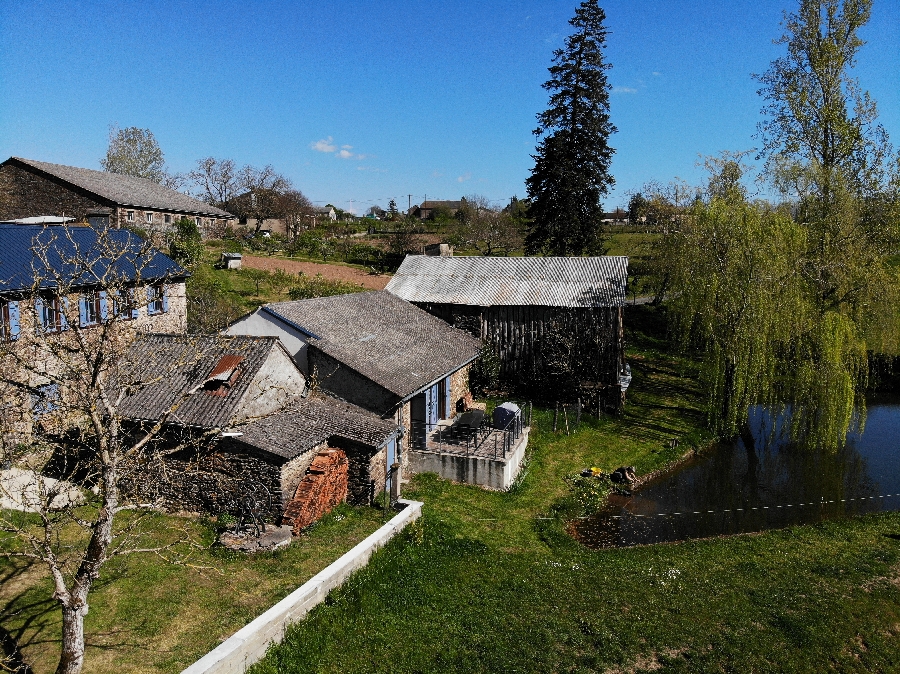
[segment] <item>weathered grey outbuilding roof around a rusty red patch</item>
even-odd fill
[[[181,401],[170,417],[172,422],[201,428],[228,426],[234,423],[241,399],[260,367],[273,349],[280,348],[277,337],[138,335],[117,376],[118,385],[128,391],[120,413],[156,421]],[[211,395],[201,387],[227,356],[243,357],[240,377],[226,395]]]

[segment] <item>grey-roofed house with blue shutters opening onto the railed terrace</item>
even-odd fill
[[[468,371],[481,342],[384,291],[277,302],[229,335],[272,335],[316,387],[404,433],[434,427],[471,402]],[[406,462],[397,447],[401,463]]]

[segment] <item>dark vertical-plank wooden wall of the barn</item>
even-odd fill
[[[580,379],[618,384],[624,366],[621,307],[414,304],[491,344],[505,382],[529,383],[545,371],[548,357],[562,351]]]

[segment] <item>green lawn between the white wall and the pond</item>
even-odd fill
[[[565,533],[566,476],[646,473],[676,458],[667,439],[704,442],[692,364],[650,338],[655,310],[628,311],[624,418],[566,436],[536,411],[509,493],[415,478],[420,522],[252,671],[900,671],[900,514],[618,550]]]

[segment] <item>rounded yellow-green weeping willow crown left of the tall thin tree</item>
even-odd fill
[[[778,396],[785,349],[773,347],[791,342],[807,312],[796,265],[806,232],[732,191],[696,202],[662,243],[673,327],[704,355],[710,425],[733,435],[750,405]]]

